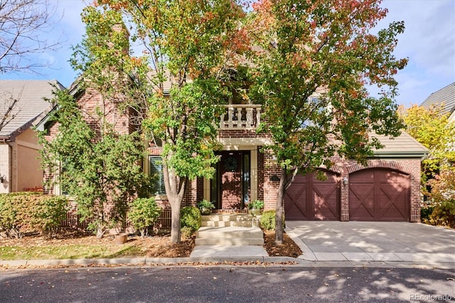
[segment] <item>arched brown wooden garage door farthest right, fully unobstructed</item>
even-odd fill
[[[364,169],[349,176],[349,220],[409,221],[410,176]]]

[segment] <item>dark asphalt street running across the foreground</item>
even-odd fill
[[[435,302],[455,270],[392,267],[79,267],[0,272],[0,302]]]

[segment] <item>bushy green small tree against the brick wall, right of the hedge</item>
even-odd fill
[[[59,175],[60,186],[77,201],[81,220],[90,222],[89,229],[101,238],[107,226],[124,223],[129,201],[151,188],[138,162],[144,144],[137,133],[114,132],[103,114],[92,117],[89,125],[68,92],[55,94],[58,110],[50,119],[58,123],[59,132],[51,142],[40,134],[43,169]],[[113,206],[109,213],[108,203]]]

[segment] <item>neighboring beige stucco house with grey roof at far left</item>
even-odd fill
[[[33,126],[51,108],[45,98],[53,97],[53,85],[63,89],[56,80],[0,80],[0,120],[6,113],[12,117],[0,129],[0,193],[43,186],[41,146]]]

